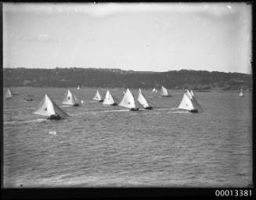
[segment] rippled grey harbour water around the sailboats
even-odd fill
[[[251,94],[194,92],[204,112],[175,109],[182,91],[144,95],[157,109],[129,112],[93,102],[96,88],[71,89],[86,101],[62,107],[66,120],[33,109],[63,88],[16,87],[4,101],[5,187],[242,187],[252,183]],[[143,91],[143,90],[142,90]],[[104,96],[106,89],[99,89]],[[119,100],[121,89],[110,92]],[[137,91],[132,90],[136,96]],[[23,100],[34,95],[33,102]],[[9,117],[12,120],[9,121]],[[49,131],[56,131],[49,134]]]

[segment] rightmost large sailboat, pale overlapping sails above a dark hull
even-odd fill
[[[186,90],[183,94],[182,102],[178,105],[178,109],[186,109],[189,112],[200,112],[202,111],[201,105],[197,102],[197,99]]]

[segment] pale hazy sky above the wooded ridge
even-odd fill
[[[246,3],[3,3],[3,67],[251,73]]]

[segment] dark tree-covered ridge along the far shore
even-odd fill
[[[195,90],[251,89],[252,76],[246,73],[223,73],[202,70],[137,72],[94,68],[3,69],[4,87],[131,87],[168,89],[190,87]]]

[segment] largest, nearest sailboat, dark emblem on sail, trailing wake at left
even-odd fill
[[[53,102],[46,94],[33,114],[48,116],[47,120],[60,120],[68,117],[67,113],[63,112],[63,110],[60,109],[59,106],[56,105],[56,103]]]

